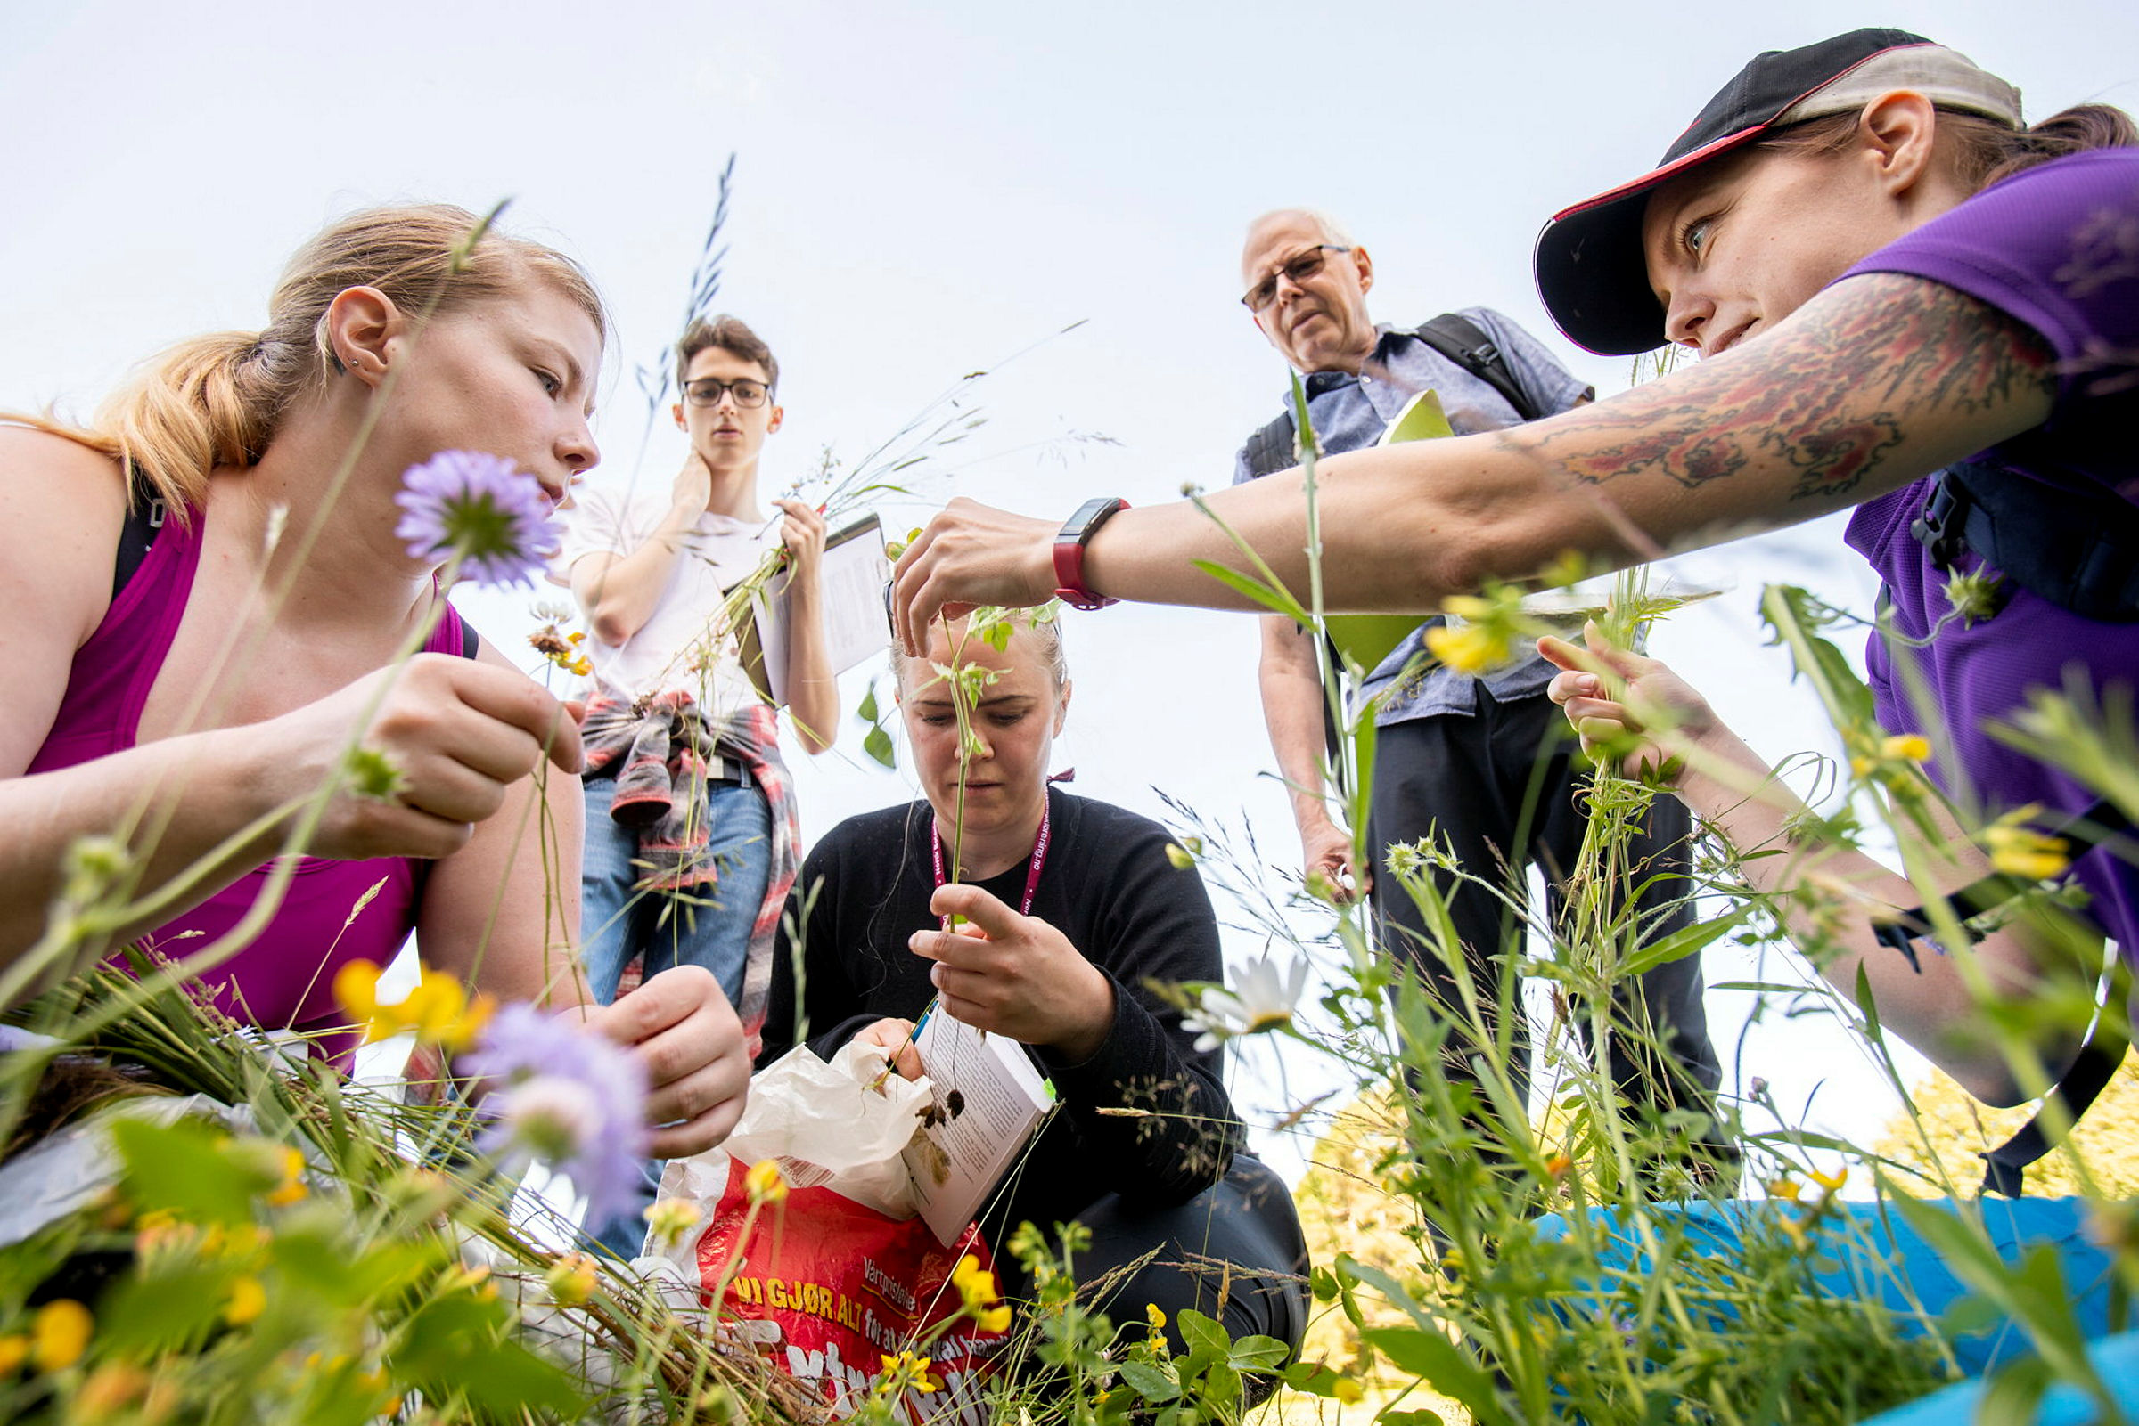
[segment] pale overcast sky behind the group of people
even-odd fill
[[[787,428],[766,472],[858,458],[960,374],[1084,325],[980,383],[990,417],[945,490],[1065,515],[1089,494],[1219,485],[1283,368],[1236,306],[1245,222],[1307,203],[1373,250],[1373,310],[1493,306],[1600,393],[1529,280],[1540,222],[1647,169],[1758,49],[1861,24],[1914,28],[2015,81],[2030,118],[2139,107],[2139,6],[1921,4],[276,4],[0,0],[0,408],[88,410],[126,363],[259,327],[282,259],[366,203],[445,199],[580,257],[607,293],[597,481],[667,481],[682,445],[629,372],[672,340],[738,154],[721,306],[781,357]],[[665,428],[665,421],[663,421]],[[1072,438],[1104,434],[1114,445]],[[896,511],[892,524],[918,513]],[[1833,524],[1733,547],[1737,588],[1658,639],[1773,757],[1825,748],[1758,648],[1788,579],[1869,607]],[[471,603],[515,648],[526,601]],[[1294,857],[1238,616],[1117,607],[1070,620],[1076,791],[1159,815],[1155,789]],[[849,678],[851,708],[866,669]],[[796,755],[804,836],[911,795],[841,750]],[[1236,936],[1232,951],[1260,947]],[[1711,979],[1743,966],[1718,956]],[[1743,996],[1711,1016],[1726,1060]],[[1810,1122],[1891,1107],[1831,1035],[1758,1028],[1730,1073]],[[1251,1092],[1275,1095],[1268,1065]],[[1288,1088],[1315,1082],[1288,1065]],[[1818,1088],[1820,1084],[1825,1088]],[[1286,1157],[1286,1154],[1279,1154]]]

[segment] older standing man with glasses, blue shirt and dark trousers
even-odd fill
[[[1527,331],[1487,308],[1442,314],[1416,329],[1378,327],[1367,314],[1373,259],[1311,210],[1279,210],[1249,224],[1241,278],[1247,286],[1241,304],[1305,381],[1307,415],[1322,453],[1373,445],[1425,389],[1435,391],[1459,434],[1555,415],[1594,396]],[[1288,396],[1279,417],[1249,436],[1234,483],[1298,464],[1290,408]],[[1425,652],[1425,631],[1437,622],[1414,629],[1352,691],[1352,708],[1373,703],[1375,720],[1373,797],[1363,844],[1380,864],[1395,842],[1437,838],[1455,851],[1457,866],[1506,885],[1517,900],[1527,866],[1536,864],[1557,911],[1585,817],[1566,720],[1544,693],[1555,669],[1534,648],[1476,678],[1435,665]],[[1307,874],[1326,877],[1343,894],[1371,892],[1388,951],[1435,996],[1457,1005],[1455,979],[1431,949],[1416,902],[1392,877],[1375,879],[1373,868],[1352,866],[1352,834],[1328,812],[1322,776],[1328,701],[1313,641],[1283,616],[1264,616],[1262,624],[1262,714],[1292,791]],[[1690,902],[1681,900],[1690,892],[1683,881],[1688,819],[1666,797],[1649,819],[1634,847],[1643,864],[1636,881],[1647,881],[1641,900],[1645,909],[1653,904],[1662,919],[1656,934],[1662,934],[1692,919]],[[1457,939],[1480,994],[1512,1003],[1504,966],[1521,951],[1521,919],[1484,887],[1448,874],[1440,881],[1452,898]],[[1506,996],[1493,996],[1493,988],[1506,988]],[[1701,992],[1698,958],[1658,966],[1628,986],[1624,1011],[1638,1033],[1611,1037],[1611,1071],[1634,1103],[1658,1112],[1711,1107],[1720,1067]],[[1514,1009],[1508,1028],[1517,1084],[1525,1084],[1527,1035],[1519,1005]],[[1581,1030],[1587,1020],[1574,1024]],[[1452,1035],[1450,1075],[1467,1080],[1476,1052],[1465,1035]],[[1715,1167],[1701,1161],[1701,1172]]]

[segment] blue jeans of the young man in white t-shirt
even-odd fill
[[[772,810],[755,787],[706,787],[706,855],[721,879],[695,892],[642,892],[644,868],[637,832],[610,817],[616,778],[586,780],[586,859],[580,870],[580,926],[586,979],[603,1005],[633,956],[646,958],[652,979],[670,966],[706,966],[721,981],[729,1005],[742,996],[742,962],[751,926],[772,881]],[[603,1223],[584,1231],[620,1259],[633,1259],[646,1240],[646,1208],[661,1184],[661,1161],[642,1165],[640,1195]]]

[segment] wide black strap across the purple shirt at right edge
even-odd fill
[[[1987,462],[1932,477],[1910,534],[1949,569],[1974,549],[2006,579],[2079,618],[2139,622],[2139,507],[2045,485]]]

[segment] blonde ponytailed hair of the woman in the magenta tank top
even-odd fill
[[[216,466],[259,462],[291,404],[338,372],[327,306],[374,286],[411,316],[449,312],[548,282],[595,321],[607,312],[586,272],[563,252],[488,231],[449,203],[370,207],[297,248],[267,299],[263,331],[216,331],[165,351],[88,425],[6,417],[103,451],[139,472],[178,520],[201,502]],[[128,502],[135,481],[128,481]]]

